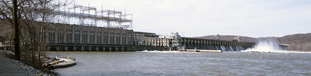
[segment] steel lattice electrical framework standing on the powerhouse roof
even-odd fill
[[[73,12],[70,12],[70,10],[73,9]],[[76,9],[80,10],[80,13],[76,13]],[[86,26],[97,26],[98,21],[106,22],[108,28],[120,28],[120,29],[127,29],[131,28],[133,30],[133,14],[122,14],[120,11],[115,10],[97,10],[95,7],[86,7],[82,5],[73,5],[73,7],[69,7],[67,9],[68,11],[60,11],[60,10],[54,10],[55,16],[61,16],[64,18],[63,23],[70,23],[69,19],[75,18],[79,19],[78,25],[86,25]],[[94,11],[94,14],[90,14],[91,11]],[[88,12],[88,13],[85,13]],[[97,15],[97,13],[101,13],[101,15]],[[106,13],[107,15],[103,15]],[[113,17],[111,17],[113,15]],[[117,17],[116,17],[117,15]],[[126,19],[126,16],[132,16],[131,19]],[[68,21],[66,21],[68,19]],[[85,23],[85,20],[91,20],[93,22]],[[115,22],[118,24],[118,26],[111,26],[111,22]],[[122,23],[129,22],[130,25],[122,25]]]

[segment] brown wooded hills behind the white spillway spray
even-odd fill
[[[224,41],[232,41],[236,40],[234,37],[239,35],[221,35],[220,39]],[[248,36],[240,36],[241,42],[251,42],[257,43],[260,41],[277,41],[279,44],[288,44],[291,45],[285,50],[293,50],[293,51],[311,51],[311,33],[299,33],[299,34],[291,34],[285,35],[282,37],[248,37]],[[200,39],[211,39],[215,40],[213,35],[206,35],[196,37]]]

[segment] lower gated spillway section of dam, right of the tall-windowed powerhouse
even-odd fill
[[[252,48],[255,43],[198,39],[193,37],[180,37],[178,32],[172,35],[159,37],[134,36],[134,45],[170,47],[170,50],[184,51],[185,49],[242,51]]]

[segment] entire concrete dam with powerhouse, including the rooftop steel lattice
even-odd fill
[[[74,12],[70,12],[72,9]],[[77,13],[75,9],[80,9],[81,12]],[[22,28],[21,35],[25,37],[23,45],[31,45],[30,43],[40,40],[40,34],[36,33],[42,33],[41,40],[47,51],[186,51],[187,49],[241,51],[255,45],[249,42],[222,41],[217,38],[209,40],[182,37],[178,32],[172,32],[171,35],[157,35],[134,31],[133,14],[125,14],[125,11],[123,13],[115,10],[96,10],[94,7],[82,5],[74,5],[67,10],[53,11],[54,15],[63,18],[63,21],[50,20],[45,22],[46,25],[42,28],[39,28],[41,26],[38,22],[33,28],[36,31],[31,32]],[[90,11],[94,11],[94,14],[90,14]],[[105,13],[106,16],[103,15]],[[132,17],[128,19],[126,16]],[[69,24],[70,19],[78,19],[79,22]],[[106,22],[106,25],[99,25],[100,22]],[[37,36],[31,37],[33,34]]]

